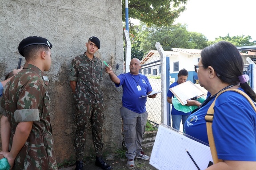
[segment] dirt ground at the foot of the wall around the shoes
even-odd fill
[[[144,147],[144,153],[148,156],[151,155],[153,146]],[[117,154],[109,154],[104,158],[105,162],[113,167],[113,170],[157,170],[152,165],[149,164],[149,160],[143,160],[140,158],[135,158],[135,166],[129,167],[127,165],[126,158],[120,158]],[[59,168],[59,170],[74,170],[75,166],[70,166],[66,168]],[[84,162],[84,170],[102,170],[100,167],[95,166],[95,160]]]

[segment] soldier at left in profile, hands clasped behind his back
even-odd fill
[[[4,87],[1,100],[3,154],[13,170],[57,170],[50,124],[48,77],[52,44],[28,37],[19,45],[26,64]]]

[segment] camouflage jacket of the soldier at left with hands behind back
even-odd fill
[[[50,124],[48,81],[36,66],[26,64],[4,87],[1,114],[11,126],[10,147],[19,122],[33,121],[30,135],[15,159],[13,170],[57,170]]]

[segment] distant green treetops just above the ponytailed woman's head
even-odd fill
[[[234,44],[235,46],[253,46],[256,45],[256,41],[250,42],[252,40],[251,36],[245,36],[245,35],[237,35],[237,36],[230,36],[229,34],[222,37],[219,36],[218,38],[215,38],[215,41],[209,41],[208,44],[214,44],[215,42],[219,41],[228,41]]]

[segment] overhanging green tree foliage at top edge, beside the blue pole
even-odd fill
[[[139,19],[148,26],[171,25],[181,12],[185,11],[188,0],[128,0],[129,18]],[[122,0],[123,21],[125,21],[125,0]]]

